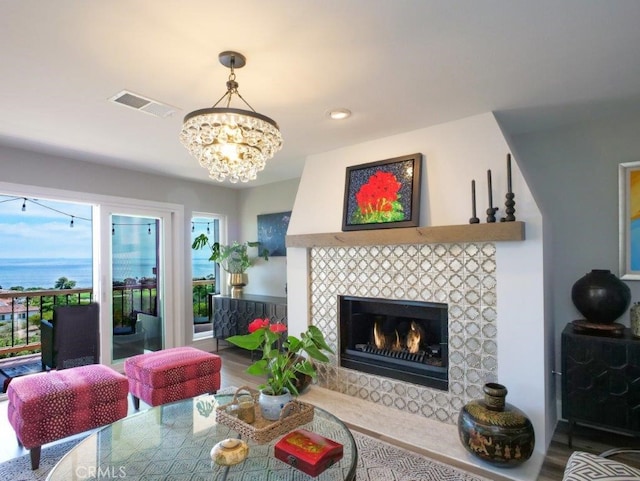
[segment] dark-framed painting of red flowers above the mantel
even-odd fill
[[[347,167],[342,230],[417,227],[422,154]]]

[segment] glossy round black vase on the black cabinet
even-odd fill
[[[611,271],[594,269],[573,285],[571,300],[588,322],[611,324],[629,307],[631,290]]]

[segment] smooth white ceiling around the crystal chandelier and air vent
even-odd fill
[[[178,133],[225,92],[218,53],[236,50],[239,91],[284,146],[257,181],[224,185],[262,185],[310,154],[489,111],[520,133],[640,110],[639,24],[637,0],[7,0],[0,144],[217,185]],[[108,101],[122,90],[176,112]]]

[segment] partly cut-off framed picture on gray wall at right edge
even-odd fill
[[[640,280],[640,162],[618,166],[620,273]]]

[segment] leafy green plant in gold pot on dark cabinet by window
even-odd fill
[[[242,293],[242,288],[246,285],[244,274],[256,259],[249,257],[249,247],[257,247],[258,256],[265,261],[269,260],[269,251],[261,248],[260,242],[245,242],[241,244],[238,241],[234,241],[230,245],[220,244],[219,242],[211,244],[206,234],[200,234],[191,244],[193,249],[203,249],[205,247],[211,249],[209,260],[216,262],[223,270],[229,273],[232,295]]]

